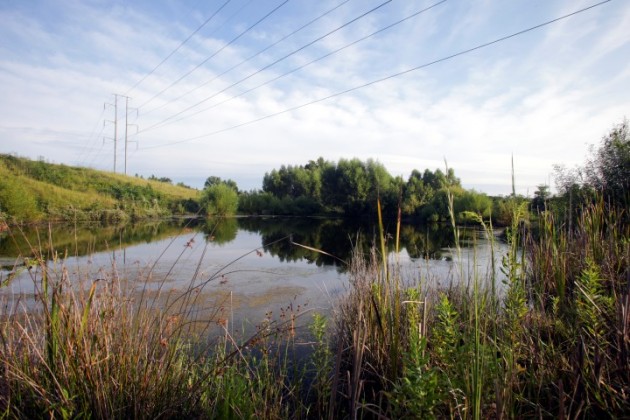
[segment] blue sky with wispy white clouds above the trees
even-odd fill
[[[0,0],[0,153],[242,190],[356,157],[490,195],[513,161],[532,196],[630,115],[630,1],[598,1]]]

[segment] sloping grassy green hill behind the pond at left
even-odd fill
[[[0,215],[11,220],[164,217],[195,212],[198,196],[167,182],[0,154]]]

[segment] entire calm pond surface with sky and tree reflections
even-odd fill
[[[398,254],[395,223],[385,229],[390,260],[409,281],[447,286],[473,272],[486,278],[491,254],[483,232],[462,229],[458,257],[450,227],[403,225]],[[367,255],[377,232],[342,219],[273,217],[12,230],[0,236],[0,312],[32,304],[40,277],[32,258],[41,253],[50,266],[65,266],[73,282],[120,280],[163,301],[193,287],[203,310],[220,307],[232,325],[247,329],[287,308],[325,313],[348,288],[353,246]],[[495,251],[500,262],[505,245],[496,241]]]

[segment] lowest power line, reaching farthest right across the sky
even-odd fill
[[[551,25],[553,23],[559,22],[561,20],[567,19],[569,17],[575,16],[577,14],[586,12],[586,11],[591,10],[591,9],[594,9],[595,7],[601,6],[601,5],[609,3],[611,1],[612,0],[604,0],[604,1],[601,1],[599,3],[595,3],[593,5],[590,5],[590,6],[582,8],[582,9],[579,9],[579,10],[577,10],[575,12],[572,12],[572,13],[560,16],[560,17],[552,19],[552,20],[548,20],[546,22],[540,23],[540,24],[535,25],[535,26],[531,26],[531,27],[529,27],[527,29],[523,29],[523,30],[518,31],[518,32],[514,32],[514,33],[512,33],[510,35],[506,35],[506,36],[503,36],[501,38],[497,38],[497,39],[495,39],[493,41],[489,41],[489,42],[486,42],[486,43],[483,43],[483,44],[479,44],[479,45],[477,45],[475,47],[459,51],[457,53],[448,55],[446,57],[442,57],[440,59],[437,59],[437,60],[434,60],[434,61],[431,61],[431,62],[428,62],[428,63],[425,63],[425,64],[421,64],[419,66],[411,67],[411,68],[409,68],[407,70],[403,70],[403,71],[400,71],[400,72],[397,72],[397,73],[393,73],[393,74],[390,74],[388,76],[385,76],[385,77],[382,77],[382,78],[379,78],[379,79],[375,79],[375,80],[372,80],[370,82],[367,82],[367,83],[364,83],[364,84],[361,84],[361,85],[358,85],[358,86],[355,86],[355,87],[352,87],[352,88],[349,88],[349,89],[346,89],[346,90],[343,90],[343,91],[340,91],[340,92],[337,92],[337,93],[333,93],[331,95],[328,95],[328,96],[325,96],[325,97],[322,97],[322,98],[319,98],[319,99],[315,99],[313,101],[310,101],[310,102],[307,102],[307,103],[304,103],[304,104],[301,104],[301,105],[297,105],[297,106],[294,106],[294,107],[291,107],[291,108],[287,108],[287,109],[279,111],[279,112],[275,112],[273,114],[268,114],[268,115],[265,115],[265,116],[260,117],[260,118],[256,118],[256,119],[253,119],[253,120],[250,120],[250,121],[246,121],[246,122],[234,125],[234,126],[230,126],[230,127],[227,127],[227,128],[223,128],[223,129],[220,129],[220,130],[216,130],[216,131],[210,132],[210,133],[202,134],[202,135],[199,135],[199,136],[189,137],[187,139],[178,140],[178,141],[169,142],[169,143],[164,143],[164,144],[155,145],[155,146],[148,146],[148,147],[145,147],[144,149],[155,149],[155,148],[158,148],[158,147],[165,147],[165,146],[172,146],[172,145],[175,145],[175,144],[187,143],[187,142],[190,142],[190,141],[194,141],[194,140],[199,140],[199,139],[206,138],[206,137],[215,136],[217,134],[221,134],[221,133],[224,133],[224,132],[227,132],[227,131],[230,131],[230,130],[234,130],[234,129],[237,129],[237,128],[244,127],[246,125],[251,125],[251,124],[254,124],[254,123],[257,123],[257,122],[260,122],[260,121],[264,121],[266,119],[277,117],[278,115],[286,114],[288,112],[296,111],[298,109],[302,109],[302,108],[305,108],[307,106],[314,105],[314,104],[317,104],[319,102],[323,102],[323,101],[326,101],[328,99],[332,99],[332,98],[335,98],[335,97],[338,97],[338,96],[341,96],[341,95],[345,95],[346,93],[354,92],[354,91],[357,91],[359,89],[363,89],[363,88],[366,88],[368,86],[375,85],[377,83],[381,83],[381,82],[384,82],[384,81],[387,81],[387,80],[391,80],[391,79],[394,79],[396,77],[400,77],[400,76],[412,73],[414,71],[417,71],[417,70],[420,70],[420,69],[424,69],[424,68],[427,68],[429,66],[433,66],[435,64],[442,63],[444,61],[448,61],[448,60],[451,60],[453,58],[456,58],[456,57],[459,57],[459,56],[462,56],[462,55],[465,55],[465,54],[469,54],[471,52],[474,52],[474,51],[477,51],[477,50],[489,47],[489,46],[497,44],[499,42],[503,42],[503,41],[506,41],[508,39],[515,38],[517,36],[526,34],[528,32],[534,31],[536,29],[540,29],[542,27],[545,27],[545,26]]]

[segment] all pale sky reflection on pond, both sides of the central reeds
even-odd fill
[[[442,250],[441,258],[435,260],[411,258],[403,249],[398,257],[390,255],[390,261],[400,262],[403,279],[422,279],[428,287],[448,287],[460,283],[462,278],[468,281],[475,273],[483,281],[490,267],[490,246],[483,238],[476,242],[475,248],[462,248],[461,260],[452,249]],[[497,242],[499,287],[502,278],[499,266],[505,251],[505,245]],[[294,309],[299,305],[304,310],[306,305],[309,310],[327,312],[348,286],[347,274],[336,267],[318,266],[306,259],[281,261],[277,255],[265,251],[260,233],[243,229],[237,231],[233,240],[222,244],[206,242],[203,233],[188,230],[154,242],[143,241],[125,248],[111,246],[110,251],[70,257],[65,265],[73,281],[91,282],[117,276],[136,292],[145,290],[145,298],[149,299],[158,291],[163,294],[162,299],[167,295],[172,299],[194,280],[194,285],[199,286],[197,306],[202,309],[221,306],[237,329],[244,324],[251,329],[267,312],[277,316],[281,308],[290,305]],[[6,274],[5,270],[4,278]],[[19,276],[0,288],[3,310],[10,307],[10,304],[5,306],[7,300],[15,301],[12,294],[22,292],[32,298],[34,285],[30,274],[22,268]]]

